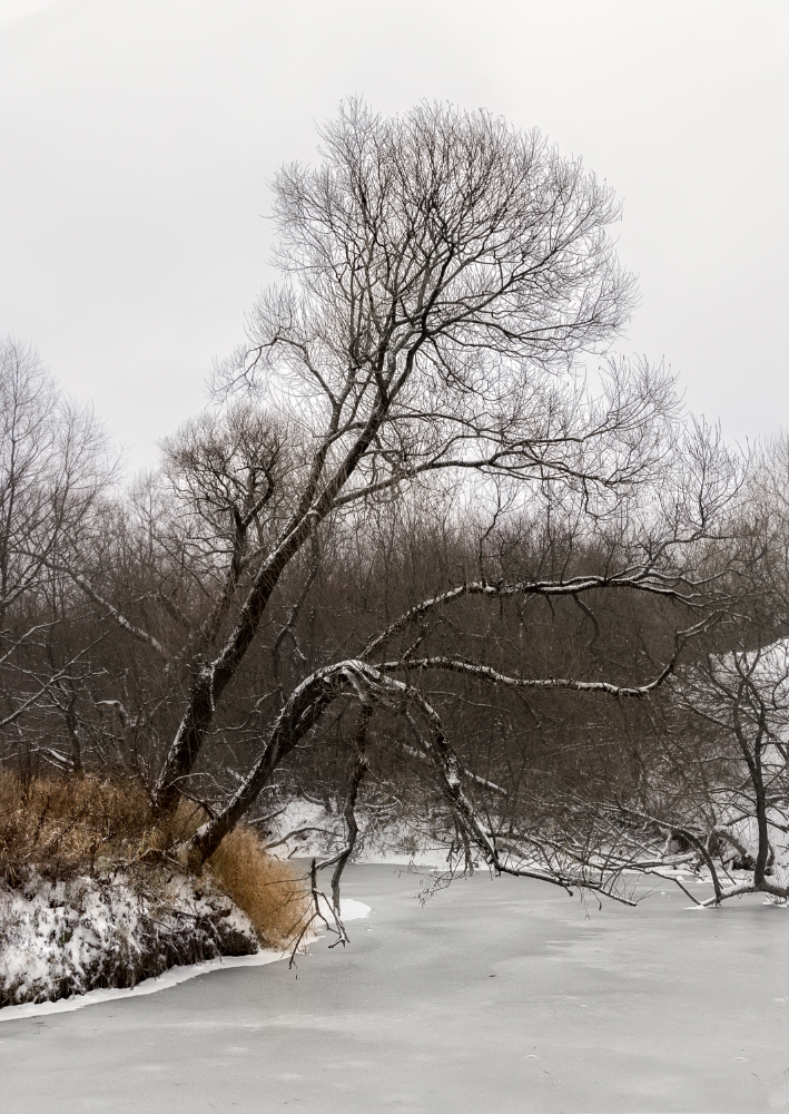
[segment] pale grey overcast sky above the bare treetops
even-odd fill
[[[665,360],[744,440],[789,426],[788,0],[0,0],[0,332],[130,467],[205,400],[273,278],[267,182],[357,94],[485,107],[624,202]]]

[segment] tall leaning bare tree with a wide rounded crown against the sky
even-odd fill
[[[617,208],[579,164],[536,134],[443,107],[384,119],[352,104],[322,138],[319,168],[276,179],[286,282],[219,377],[290,412],[307,467],[238,623],[195,680],[157,784],[165,810],[283,571],[333,511],[441,469],[630,479],[643,456],[634,463],[629,441],[667,405],[664,382],[633,392],[615,378],[608,405],[579,422],[575,392],[551,378],[629,309],[605,235]],[[590,471],[579,447],[603,433]]]

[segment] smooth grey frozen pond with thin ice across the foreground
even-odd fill
[[[789,1110],[789,911],[638,909],[486,874],[422,908],[348,868],[352,946],[0,1024],[3,1108],[608,1114]],[[661,896],[660,889],[665,890]],[[701,888],[700,888],[701,889]],[[296,977],[297,975],[297,977]]]

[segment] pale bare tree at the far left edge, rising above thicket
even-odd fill
[[[63,642],[53,569],[87,530],[111,478],[103,430],[21,342],[0,342],[0,676],[4,737],[41,710],[63,716],[80,766],[75,675],[88,644]]]

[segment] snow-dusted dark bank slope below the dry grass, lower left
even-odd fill
[[[0,1006],[130,987],[175,965],[252,955],[249,918],[208,879],[32,873],[0,888]]]

